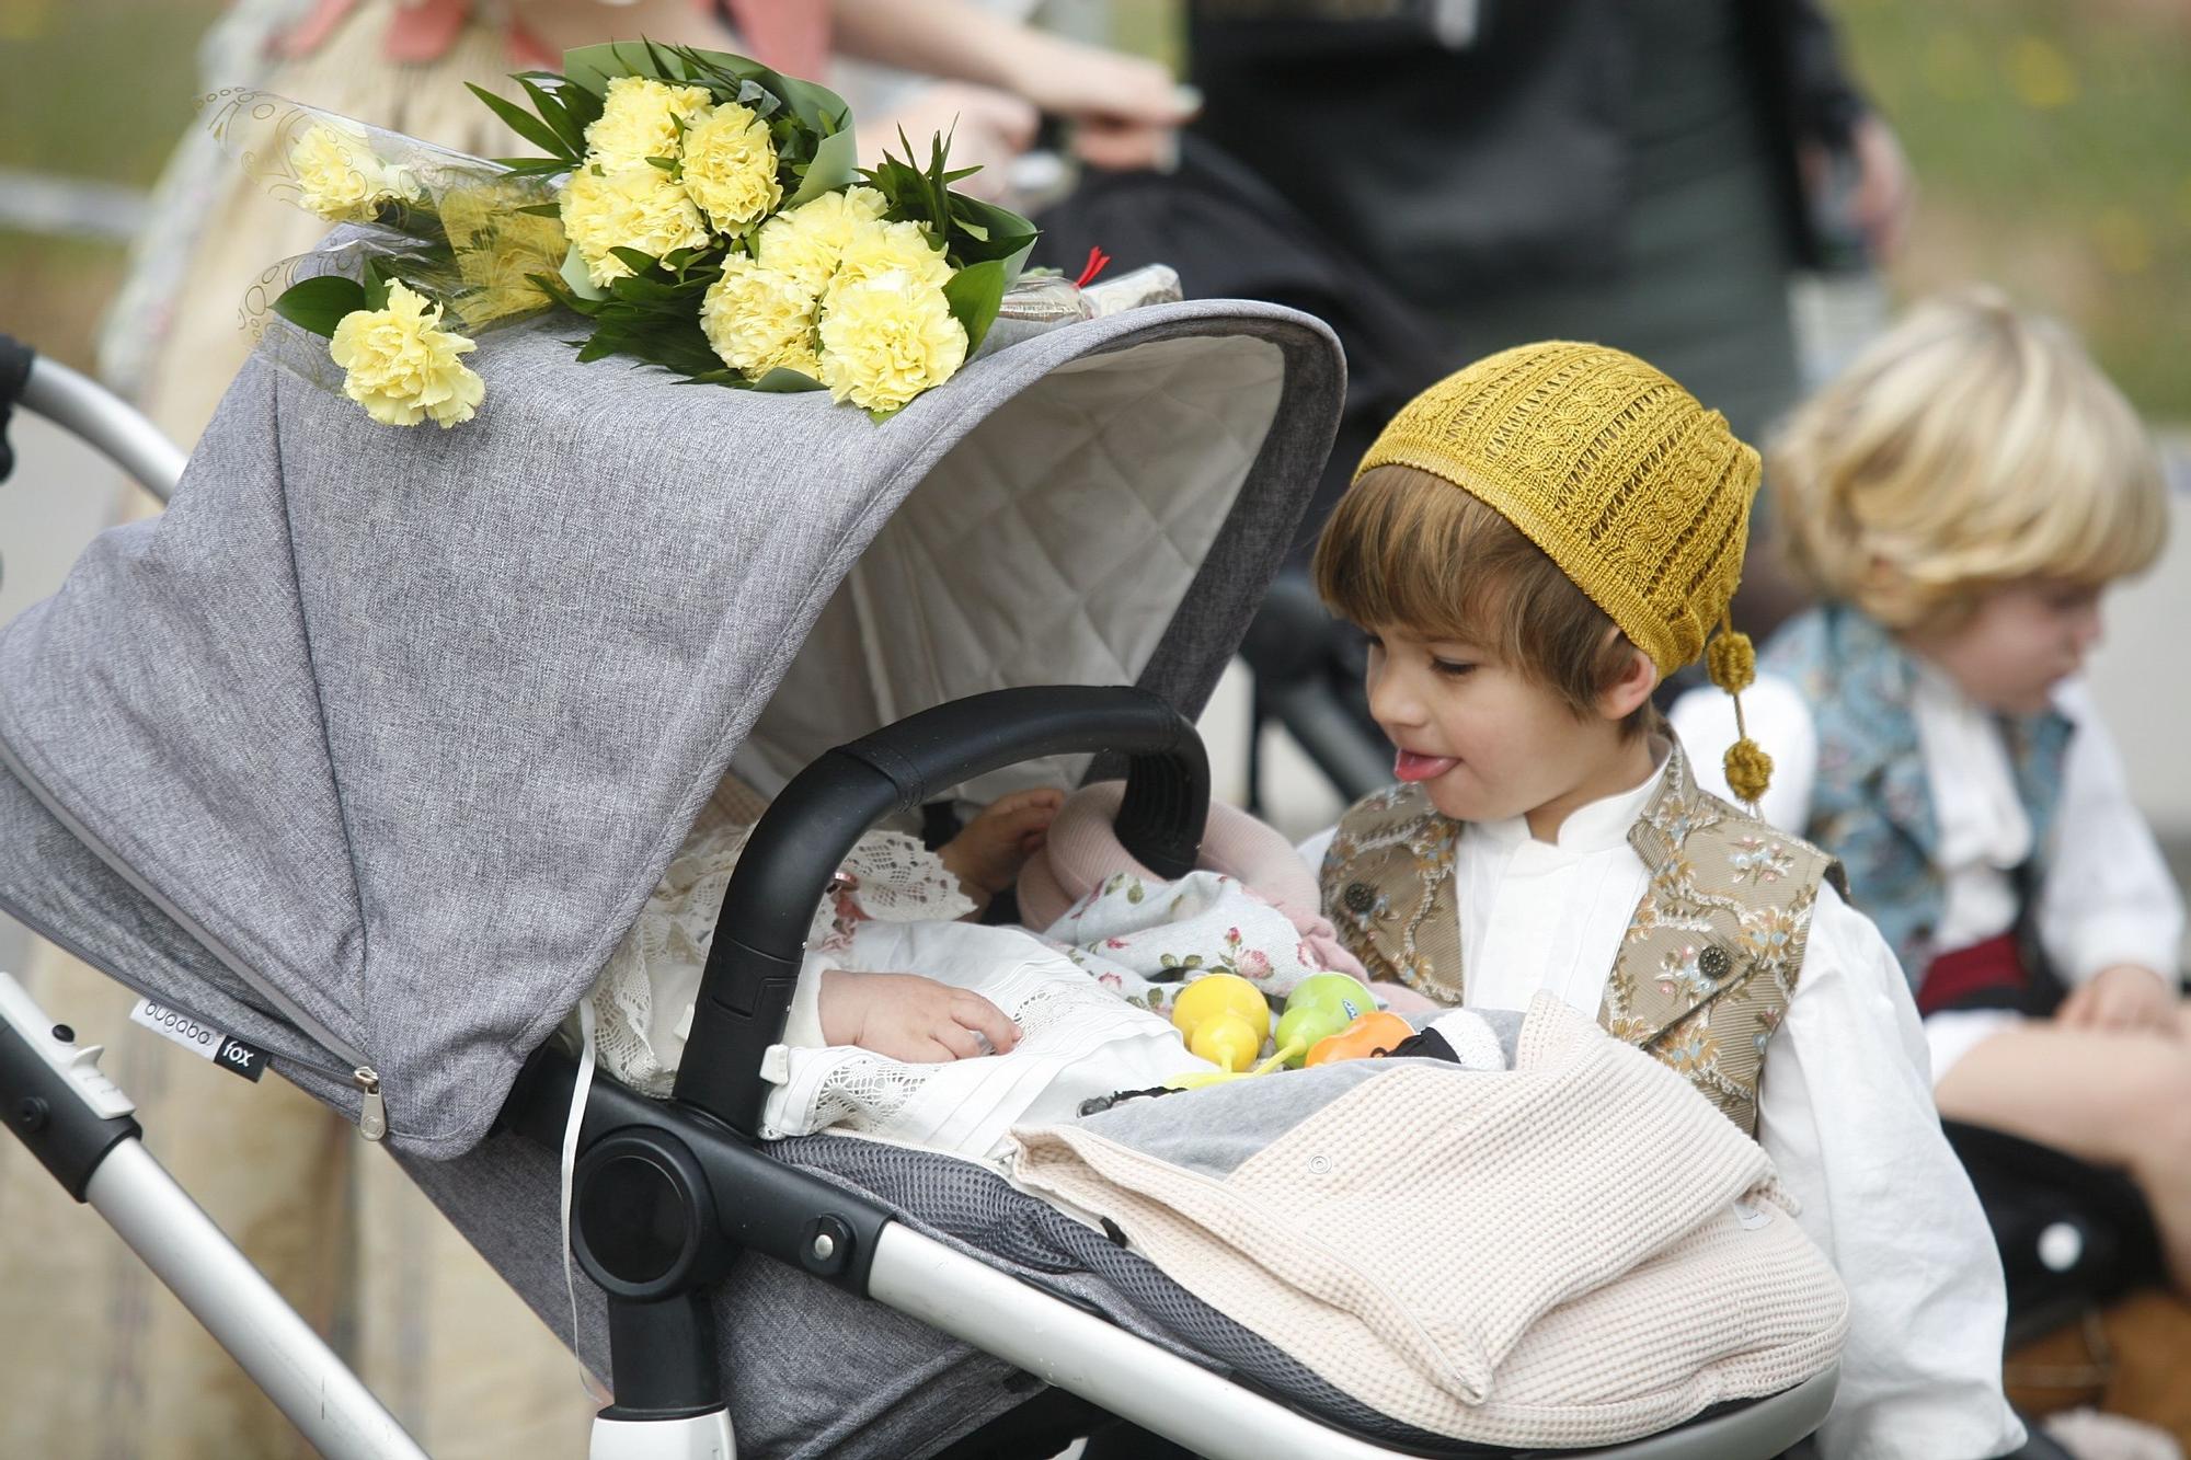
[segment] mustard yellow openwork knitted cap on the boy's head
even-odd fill
[[[1757,452],[1604,344],[1523,344],[1448,375],[1354,478],[1385,465],[1442,476],[1512,522],[1663,675],[1705,651],[1742,581]]]

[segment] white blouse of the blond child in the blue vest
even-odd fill
[[[2055,691],[2055,708],[2075,726],[2062,767],[2053,859],[2040,888],[2040,943],[2068,984],[2132,962],[2173,980],[2184,936],[2184,905],[2169,866],[2138,815],[2114,737],[2081,680]],[[1946,905],[1937,943],[1970,947],[2016,925],[2011,872],[2031,855],[2031,820],[2016,796],[2009,750],[1992,715],[1946,675],[1922,669],[1911,710],[1924,754]],[[1801,691],[1759,675],[1742,691],[1751,739],[1773,756],[1773,787],[1759,811],[1801,833],[1819,774],[1819,730]],[[1716,688],[1689,691],[1674,706],[1674,730],[1689,748],[1698,785],[1727,796],[1720,756],[1735,739],[1733,702]],[[1827,848],[1832,851],[1832,848]],[[1961,1015],[1935,1015],[1935,1019]],[[1946,1061],[1935,1061],[1935,1074]]]

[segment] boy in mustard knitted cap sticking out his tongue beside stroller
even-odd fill
[[[1400,785],[1304,855],[1372,978],[1470,1008],[1558,993],[1755,1133],[1849,1287],[1825,1456],[1994,1456],[2020,1442],[2000,1265],[1893,951],[1832,859],[1705,794],[1650,708],[1724,625],[1755,487],[1718,412],[1595,344],[1503,351],[1409,403],[1315,563],[1372,636]],[[1713,677],[1740,688],[1746,649],[1722,631]],[[1768,772],[1753,743],[1733,767],[1753,794]]]

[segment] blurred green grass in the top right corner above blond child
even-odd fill
[[[1987,278],[2191,421],[2191,7],[1840,0],[1849,61],[1924,189],[1897,294]]]

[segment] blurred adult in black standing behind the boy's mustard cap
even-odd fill
[[[1196,134],[1446,368],[1599,340],[1748,441],[1797,395],[1792,272],[1886,254],[1911,204],[1816,0],[1190,0],[1190,48]]]

